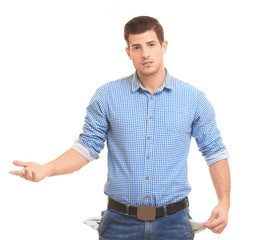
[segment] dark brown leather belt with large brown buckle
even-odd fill
[[[185,208],[189,207],[188,198],[184,198],[178,202],[168,204],[162,207],[152,207],[141,205],[138,207],[127,206],[125,204],[116,202],[112,198],[109,198],[108,208],[116,210],[120,213],[135,215],[138,219],[143,221],[153,221],[156,218],[164,217],[167,215],[175,214]],[[166,209],[166,212],[164,211]]]

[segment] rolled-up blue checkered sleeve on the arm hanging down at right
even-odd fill
[[[228,158],[229,154],[217,128],[215,111],[203,92],[199,92],[192,124],[192,136],[208,166]]]

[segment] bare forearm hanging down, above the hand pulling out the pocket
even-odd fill
[[[231,177],[227,159],[210,166],[210,175],[217,193],[219,203],[230,207]]]

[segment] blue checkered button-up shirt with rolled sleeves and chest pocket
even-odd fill
[[[105,194],[131,206],[162,206],[191,191],[187,156],[194,137],[207,164],[228,158],[212,105],[203,92],[168,73],[151,94],[135,72],[97,89],[83,133],[72,146],[99,158],[107,140]]]

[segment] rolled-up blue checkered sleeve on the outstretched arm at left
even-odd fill
[[[86,109],[83,132],[72,145],[74,150],[89,161],[98,159],[105,145],[108,130],[107,105],[107,90],[106,85],[103,85],[92,97]]]

